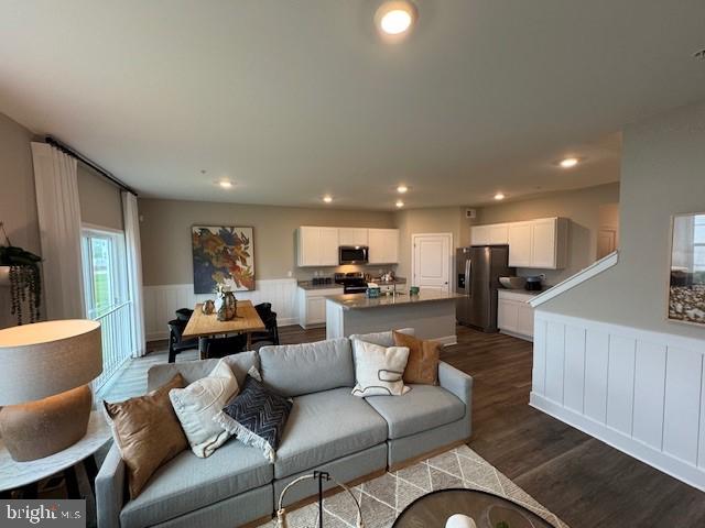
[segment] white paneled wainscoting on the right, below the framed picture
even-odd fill
[[[705,340],[535,312],[531,405],[705,491]]]

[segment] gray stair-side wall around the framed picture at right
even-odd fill
[[[665,318],[671,216],[705,210],[705,102],[625,129],[620,196],[619,263],[542,309],[705,339]]]

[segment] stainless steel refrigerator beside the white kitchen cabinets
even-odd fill
[[[514,275],[509,267],[508,245],[458,248],[455,256],[457,280],[456,319],[460,324],[485,332],[497,331],[497,288],[499,277]]]

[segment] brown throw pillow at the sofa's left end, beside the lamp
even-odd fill
[[[137,497],[158,468],[188,447],[169,399],[172,388],[186,382],[176,374],[169,383],[144,396],[120,404],[104,402],[112,420],[112,436],[128,468],[130,498]]]

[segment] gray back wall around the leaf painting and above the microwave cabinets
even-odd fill
[[[258,279],[308,278],[296,268],[294,233],[300,226],[393,228],[394,216],[379,211],[346,211],[297,207],[140,199],[140,235],[145,286],[193,283],[192,226],[252,226],[254,274]],[[333,273],[335,268],[321,268]],[[376,270],[375,270],[376,271]]]

